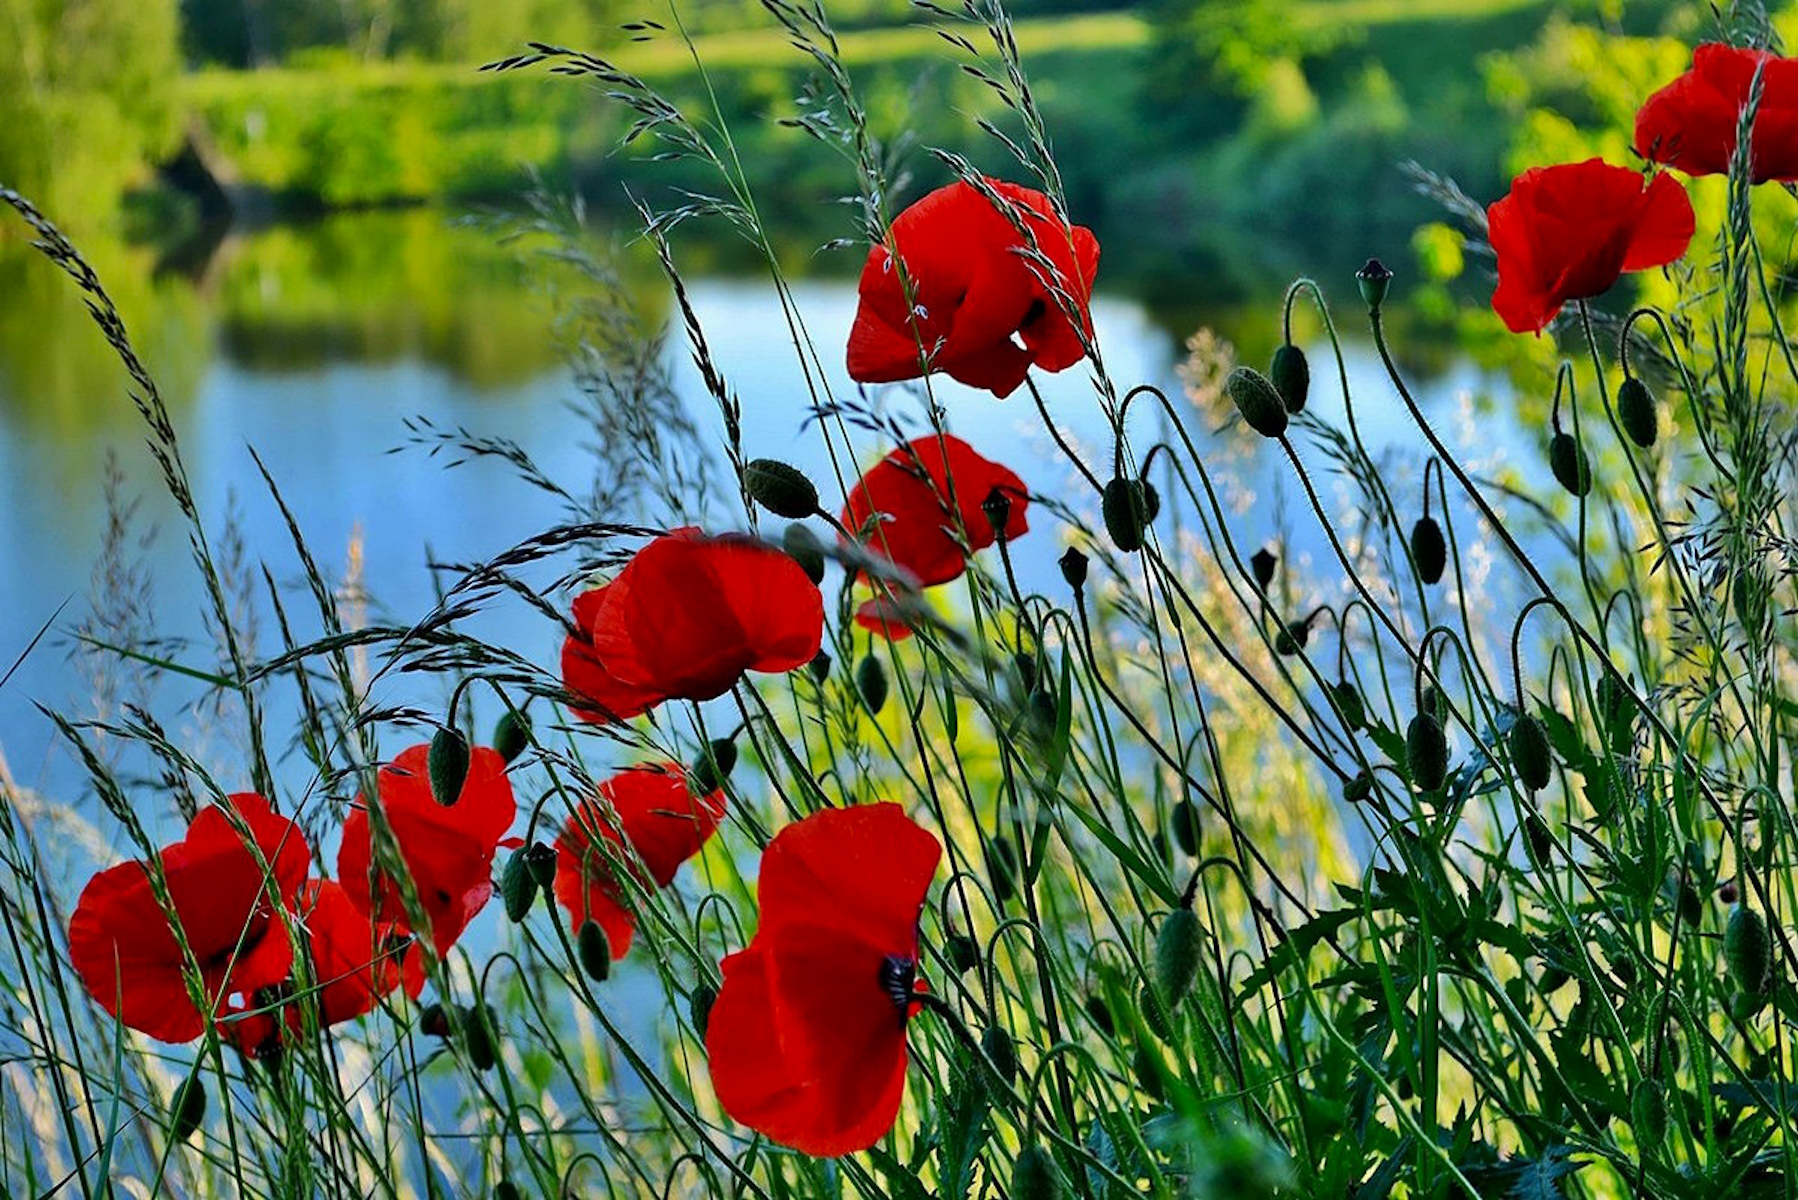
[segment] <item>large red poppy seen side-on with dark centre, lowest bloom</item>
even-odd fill
[[[762,923],[725,959],[705,1038],[735,1121],[811,1155],[867,1150],[892,1128],[940,855],[897,804],[823,810],[768,844]]]

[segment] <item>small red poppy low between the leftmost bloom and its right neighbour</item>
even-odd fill
[[[300,896],[306,919],[306,948],[311,955],[311,986],[318,1004],[318,1024],[338,1025],[372,1013],[399,984],[399,955],[392,948],[392,927],[374,925],[356,909],[334,880],[313,880]],[[261,1007],[252,997],[252,1007]],[[297,1004],[282,1006],[286,1027],[298,1033],[302,1013]],[[271,1013],[246,1013],[225,1025],[230,1040],[246,1054],[259,1056],[279,1047],[279,1027]]]

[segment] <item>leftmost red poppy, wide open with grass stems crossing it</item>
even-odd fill
[[[293,945],[275,909],[293,903],[307,873],[297,824],[250,792],[227,797],[227,806],[250,840],[225,808],[210,806],[185,838],[156,855],[214,1016],[228,997],[286,979]],[[192,1042],[205,1031],[205,1013],[187,993],[182,946],[144,862],[88,880],[68,921],[68,959],[99,1006],[131,1029],[158,1042]]]

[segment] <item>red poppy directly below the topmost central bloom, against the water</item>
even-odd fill
[[[841,522],[928,588],[955,579],[969,552],[992,545],[992,522],[980,506],[994,489],[1010,500],[1005,540],[1021,538],[1030,531],[1023,480],[960,437],[931,434],[876,462],[850,489]]]

